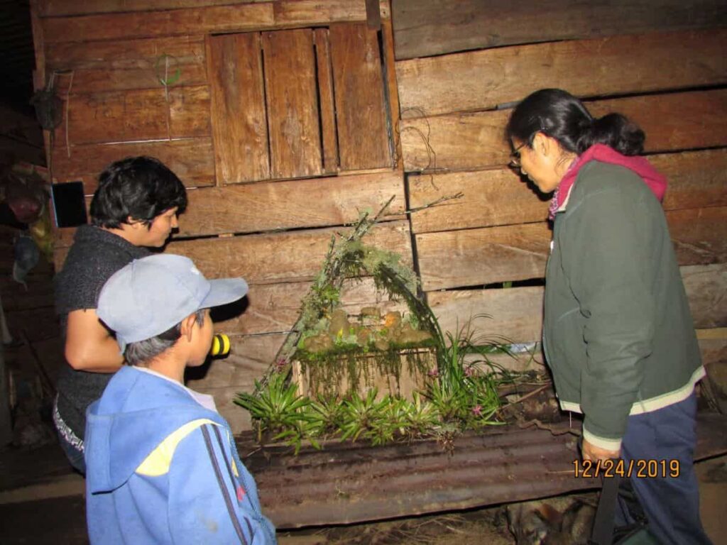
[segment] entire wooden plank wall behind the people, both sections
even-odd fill
[[[507,108],[544,86],[643,126],[670,177],[664,207],[696,326],[726,327],[725,5],[515,4],[382,0],[377,36],[364,0],[34,1],[39,70],[73,70],[59,76],[55,177],[90,195],[109,162],[161,158],[190,188],[167,251],[251,284],[241,315],[217,316],[233,354],[190,376],[236,430],[249,421],[232,397],[270,363],[329,238],[392,195],[371,237],[415,265],[447,329],[485,313],[478,333],[539,339],[547,202],[507,169],[502,134]],[[168,93],[160,77],[174,79]],[[73,233],[56,235],[60,264]],[[385,304],[371,282],[345,300]],[[708,343],[705,358],[722,360],[726,342]]]

